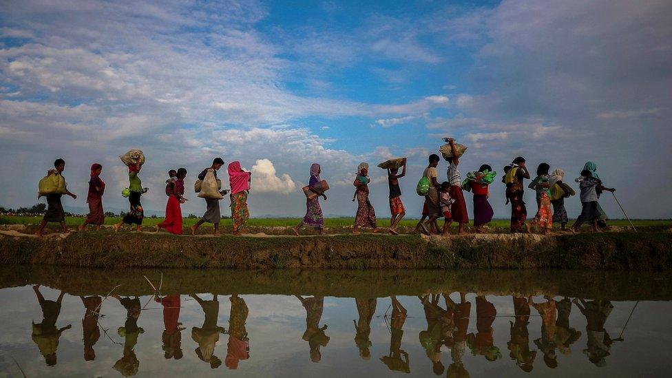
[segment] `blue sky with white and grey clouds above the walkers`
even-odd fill
[[[406,156],[403,202],[418,217],[417,180],[451,136],[468,146],[463,174],[489,164],[501,177],[524,156],[532,173],[548,162],[573,183],[593,160],[629,216],[672,217],[670,1],[2,3],[3,207],[36,203],[37,182],[64,158],[80,196],[66,207],[85,210],[100,162],[105,206],[126,209],[118,155],[139,148],[152,211],[165,209],[167,170],[185,167],[182,211],[200,215],[189,189],[221,156],[253,172],[258,217],[302,216],[313,162],[331,187],[324,213],[354,216],[352,182],[368,162],[387,218],[375,165]],[[490,191],[506,218],[503,185]],[[622,218],[610,194],[601,203]],[[578,216],[578,196],[567,210]]]

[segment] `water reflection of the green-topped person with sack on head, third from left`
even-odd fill
[[[140,298],[119,297],[114,295],[119,303],[126,308],[126,322],[123,327],[119,327],[117,333],[124,338],[124,355],[116,361],[114,369],[124,377],[138,374],[140,361],[136,357],[134,348],[138,344],[138,336],[145,333],[143,328],[138,327],[138,317],[140,317]]]

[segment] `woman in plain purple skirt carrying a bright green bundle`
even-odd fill
[[[494,211],[490,202],[489,186],[494,181],[497,172],[492,171],[490,165],[481,165],[478,171],[469,172],[462,182],[462,189],[474,193],[474,228],[476,233],[483,233],[485,224],[490,223],[494,216]]]

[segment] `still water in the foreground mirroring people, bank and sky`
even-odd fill
[[[6,267],[0,376],[664,376],[669,278]]]

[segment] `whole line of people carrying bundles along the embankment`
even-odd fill
[[[490,205],[489,186],[494,182],[496,172],[490,165],[481,165],[478,171],[470,171],[462,179],[458,168],[460,155],[456,149],[453,139],[448,139],[452,156],[448,158],[447,181],[439,182],[439,172],[437,167],[440,158],[437,154],[429,156],[429,165],[423,171],[421,181],[418,184],[417,192],[424,196],[422,218],[415,227],[415,232],[441,233],[448,235],[452,222],[458,224],[457,233],[467,233],[465,225],[469,222],[469,214],[466,207],[463,191],[473,193],[474,204],[474,230],[476,233],[485,232],[485,226],[492,220],[494,211]],[[231,218],[233,219],[233,235],[240,235],[242,227],[249,219],[249,207],[247,198],[251,189],[251,172],[244,171],[240,167],[240,162],[233,161],[228,166],[230,189],[221,189],[221,181],[217,178],[218,170],[224,165],[222,158],[215,158],[210,167],[203,169],[198,175],[198,180],[202,181],[212,174],[218,182],[218,199],[204,198],[206,208],[204,215],[196,224],[190,227],[191,234],[196,235],[198,228],[204,223],[213,224],[214,233],[219,231],[221,219],[219,200],[227,193],[231,198]],[[141,196],[149,190],[143,187],[140,180],[140,170],[142,169],[140,161],[128,165],[129,186],[125,189],[123,195],[128,197],[129,211],[120,222],[114,224],[114,230],[119,231],[124,224],[134,225],[136,231],[140,232],[143,224],[144,211],[140,202]],[[401,168],[401,173],[399,169]],[[65,169],[65,161],[58,159],[54,162],[54,169],[47,172],[50,175],[62,176]],[[536,193],[537,212],[536,216],[527,221],[527,207],[523,200],[525,191],[525,180],[531,178],[525,165],[525,158],[519,156],[515,158],[510,165],[504,167],[504,176],[502,182],[506,186],[505,197],[506,204],[511,204],[511,232],[520,233],[523,231],[531,232],[532,227],[538,229],[540,233],[552,231],[553,223],[560,224],[560,230],[565,231],[566,224],[569,221],[567,210],[565,209],[565,198],[574,195],[574,190],[565,183],[565,172],[562,169],[555,169],[549,173],[550,166],[547,163],[541,163],[536,171],[536,177],[529,183],[529,189]],[[574,225],[569,229],[577,232],[582,224],[589,222],[594,231],[601,231],[606,227],[607,216],[600,207],[598,200],[603,191],[615,191],[602,185],[602,180],[596,173],[597,165],[594,162],[587,162],[583,167],[580,177],[576,178],[580,187],[580,200],[582,202],[582,211]],[[89,189],[87,193],[87,204],[89,214],[80,230],[85,229],[87,225],[93,225],[100,229],[105,222],[103,211],[103,194],[105,193],[105,182],[101,179],[103,166],[95,163],[91,166]],[[303,227],[311,227],[322,233],[324,229],[324,216],[319,203],[319,198],[327,199],[324,189],[319,185],[321,182],[321,167],[313,163],[310,169],[310,178],[308,180],[308,191],[313,196],[306,199],[306,214],[296,227],[293,228],[295,235],[300,235]],[[166,182],[166,195],[168,197],[166,205],[165,221],[156,226],[156,231],[165,229],[170,233],[180,235],[182,233],[182,210],[180,205],[185,203],[185,177],[187,169],[169,171],[169,179]],[[406,158],[403,158],[401,167],[387,169],[389,204],[390,204],[390,227],[389,233],[397,235],[397,227],[401,220],[406,216],[406,209],[401,200],[401,189],[399,180],[406,176]],[[44,179],[43,179],[44,180]],[[353,202],[357,202],[357,213],[353,233],[361,233],[361,229],[372,229],[372,232],[378,232],[377,218],[375,209],[369,199],[371,179],[369,177],[368,164],[362,162],[357,167],[357,174],[353,185],[355,193]],[[61,204],[63,194],[76,199],[77,196],[67,190],[63,185],[62,193],[46,194],[48,209],[45,212],[42,222],[36,230],[36,235],[42,235],[43,229],[48,222],[59,222],[64,233],[68,232],[65,226],[65,212]],[[195,188],[195,190],[197,190]],[[443,218],[443,229],[439,229],[438,220]]]

